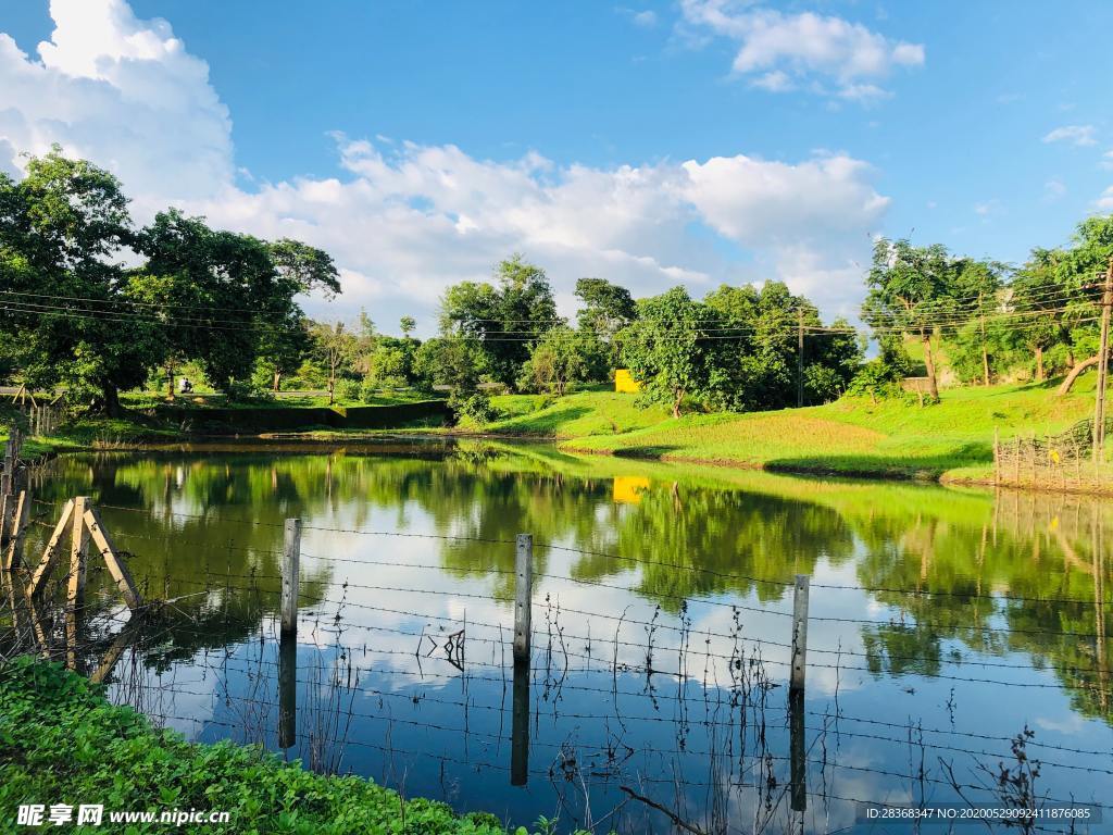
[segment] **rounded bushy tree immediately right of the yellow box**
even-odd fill
[[[713,312],[693,302],[683,287],[673,287],[641,299],[638,314],[619,334],[622,358],[646,399],[668,403],[679,418],[686,396],[708,396],[718,382],[706,338],[716,324]]]

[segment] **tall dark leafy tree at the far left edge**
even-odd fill
[[[158,323],[128,304],[119,253],[134,240],[119,181],[91,163],[55,147],[18,183],[0,175],[0,330],[26,384],[115,414],[144,382]]]

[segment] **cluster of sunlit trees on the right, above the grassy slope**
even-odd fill
[[[939,396],[940,348],[957,383],[1066,374],[1065,393],[1097,362],[1111,273],[1113,216],[1086,218],[1068,246],[1034,248],[1020,266],[955,256],[942,244],[880,238],[861,311],[880,351],[860,373],[859,387],[883,391],[912,373],[908,348],[917,345],[932,399]]]

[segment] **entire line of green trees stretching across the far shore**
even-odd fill
[[[137,227],[111,174],[56,147],[30,158],[19,180],[0,174],[0,375],[63,386],[110,414],[121,391],[165,385],[173,396],[186,367],[232,397],[447,390],[459,412],[479,419],[492,416],[483,393],[492,385],[561,396],[618,369],[674,415],[884,396],[915,374],[936,399],[940,353],[959,383],[1064,372],[1070,382],[1094,364],[1111,257],[1111,217],[1086,219],[1070,246],[1034,249],[1020,267],[879,238],[861,307],[867,334],[845,320],[824,324],[811,301],[776,281],[636,299],[584,277],[570,321],[544,269],[514,255],[490,281],[451,286],[437,335],[418,340],[412,316],[401,336],[378,333],[363,312],[354,326],[307,317],[299,296],[341,293],[327,253],[214,229],[173,208]],[[866,362],[870,336],[878,351]]]

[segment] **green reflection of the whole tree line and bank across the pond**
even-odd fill
[[[948,642],[991,655],[1024,652],[1035,665],[1063,668],[1056,675],[1080,710],[1111,715],[1097,685],[1109,688],[1113,582],[1103,543],[1113,541],[1113,531],[1096,501],[1012,493],[993,501],[942,489],[782,477],[736,477],[740,483],[732,485],[699,471],[585,463],[475,443],[400,444],[391,454],[79,455],[52,466],[37,493],[42,499],[92,492],[102,504],[150,511],[104,512],[120,547],[136,554],[134,571],[149,593],[188,595],[206,582],[250,584],[242,576],[254,573],[260,602],[229,589],[224,603],[245,620],[257,622],[277,605],[278,580],[266,576],[279,573],[282,522],[294,515],[359,529],[382,527],[372,519],[385,511],[398,530],[416,530],[421,518],[429,532],[453,538],[427,541],[446,571],[490,577],[500,596],[512,589],[511,540],[529,531],[539,543],[589,552],[574,554],[574,577],[621,578],[614,582],[673,611],[692,596],[779,599],[781,588],[745,577],[787,581],[815,571],[820,560],[838,564],[857,553],[860,584],[934,592],[874,592],[897,615],[895,623],[864,629],[870,669],[940,671]],[[637,503],[613,500],[610,473],[621,466],[650,478]],[[221,521],[227,519],[252,523]],[[554,552],[535,553],[544,572]],[[649,562],[639,567],[609,553]],[[322,593],[328,579],[328,571],[312,576],[305,593]],[[107,587],[90,576],[90,589]],[[989,597],[1002,592],[1028,599]],[[991,626],[1014,631],[985,628]]]

